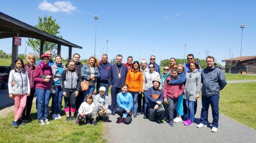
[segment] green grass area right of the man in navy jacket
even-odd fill
[[[221,91],[220,112],[256,129],[256,82],[230,83]]]

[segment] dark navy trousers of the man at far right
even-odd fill
[[[214,95],[206,97],[202,95],[202,110],[201,110],[201,123],[206,125],[208,121],[208,109],[209,105],[211,106],[212,112],[212,127],[219,127],[219,100],[220,95]]]

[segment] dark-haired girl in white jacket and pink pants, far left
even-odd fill
[[[15,83],[13,87],[12,82]],[[14,121],[12,121],[12,125],[17,128],[17,120],[26,107],[27,96],[30,96],[28,73],[24,67],[23,60],[20,58],[14,61],[14,69],[10,71],[8,89],[9,97],[14,99]]]

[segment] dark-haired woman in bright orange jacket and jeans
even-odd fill
[[[132,66],[132,70],[128,71],[125,83],[129,86],[128,92],[133,96],[133,117],[136,118],[138,109],[138,95],[143,91],[143,74],[140,71],[140,64],[138,61],[135,61]]]

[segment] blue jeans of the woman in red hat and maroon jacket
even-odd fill
[[[50,89],[36,89],[37,95],[37,119],[46,120],[48,116]]]

